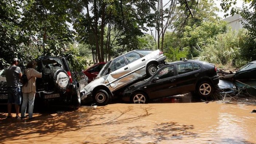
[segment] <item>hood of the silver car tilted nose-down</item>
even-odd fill
[[[86,85],[84,88],[82,88],[80,90],[81,93],[83,94],[87,94],[87,93],[90,93],[92,92],[92,90],[99,86],[99,85],[105,85],[105,81],[107,77],[100,77],[100,78],[97,78],[97,79],[94,79],[92,82],[90,82],[88,85]]]

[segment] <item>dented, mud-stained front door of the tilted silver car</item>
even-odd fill
[[[132,81],[133,75],[125,62],[124,56],[114,59],[109,68],[111,71],[107,79],[112,87],[112,91],[117,90]]]

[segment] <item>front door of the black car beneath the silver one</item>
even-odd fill
[[[146,88],[151,99],[177,94],[174,65],[161,68],[152,76]]]

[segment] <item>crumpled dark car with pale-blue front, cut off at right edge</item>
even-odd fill
[[[239,96],[256,96],[256,61],[241,67],[234,74],[226,74],[220,78],[218,86],[222,94]]]

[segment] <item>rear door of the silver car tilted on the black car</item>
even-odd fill
[[[147,57],[134,51],[124,55],[124,57],[126,58],[128,67],[131,69],[135,79],[146,73],[144,67],[148,61]]]

